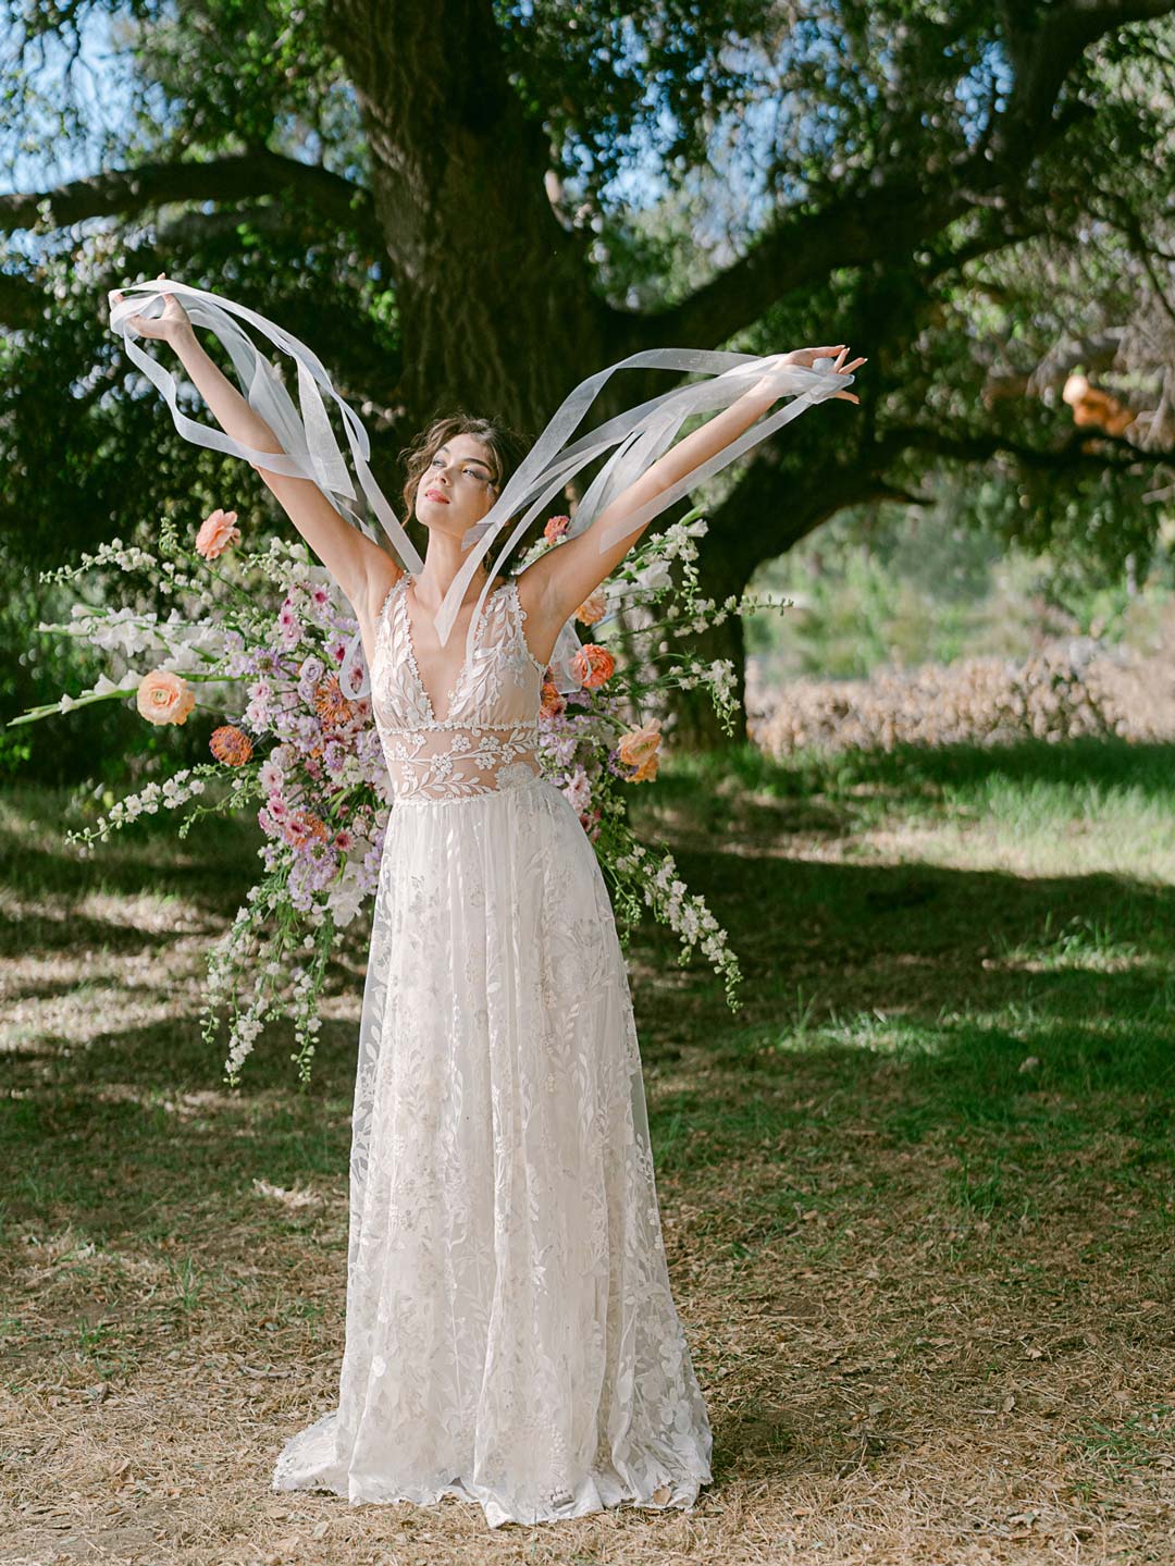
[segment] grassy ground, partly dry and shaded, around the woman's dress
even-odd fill
[[[631,951],[693,1516],[487,1530],[272,1494],[333,1403],[363,932],[308,1096],[196,1026],[253,833],[77,861],[0,796],[3,1561],[1175,1558],[1175,747],[721,764],[634,789],[740,957]]]

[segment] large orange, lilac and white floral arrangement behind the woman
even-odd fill
[[[116,678],[102,675],[92,689],[30,708],[13,722],[119,698],[133,700],[144,720],[158,725],[185,723],[196,711],[224,719],[211,733],[210,761],[149,781],[92,827],[67,833],[66,841],[92,853],[95,843],[139,816],[189,803],[178,825],[181,838],[203,814],[255,813],[264,833],[258,849],[263,874],[208,951],[200,1023],[213,1043],[221,1009],[228,1009],[225,1081],[236,1087],[264,1023],[288,1016],[296,1043],[291,1059],[307,1085],[325,966],[338,930],[374,897],[394,803],[371,702],[344,691],[338,678],[355,631],[354,614],[300,539],[271,539],[264,548],[241,550],[235,523],[236,512],[217,507],[186,545],[166,520],[155,553],[114,539],[95,554],[83,554],[78,565],[42,573],[42,581],[111,567],[131,576],[144,573],[185,609],[174,606],[163,619],[75,603],[69,622],[42,623],[42,631],[84,637],[124,667]],[[568,517],[551,517],[527,564],[557,548],[568,523]],[[641,905],[648,905],[679,935],[682,965],[701,947],[723,976],[728,1005],[737,1010],[734,991],[742,976],[726,932],[704,900],[687,891],[663,846],[640,843],[626,821],[626,789],[657,777],[662,745],[660,719],[632,727],[629,703],[638,709],[673,684],[702,684],[720,722],[732,731],[729,659],[704,664],[688,651],[671,655],[667,633],[684,636],[731,612],[778,606],[749,598],[735,603],[734,597],[718,606],[698,595],[693,540],[706,526],[695,511],[645,540],[579,606],[577,619],[593,628],[623,608],[657,606],[660,612],[631,633],[659,636],[657,659],[645,670],[635,656],[621,670],[604,644],[584,644],[574,667],[580,689],[563,694],[549,678],[543,683],[540,766],[596,847],[613,888],[621,943],[627,947]],[[233,572],[224,564],[230,551]],[[682,565],[681,589],[671,578],[671,561]],[[146,666],[146,672],[136,673],[133,666]]]

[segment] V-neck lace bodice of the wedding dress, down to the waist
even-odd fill
[[[375,619],[371,703],[396,803],[447,800],[516,788],[538,777],[538,708],[544,667],[526,645],[526,609],[512,578],[482,604],[473,658],[437,719],[411,644],[405,572]]]

